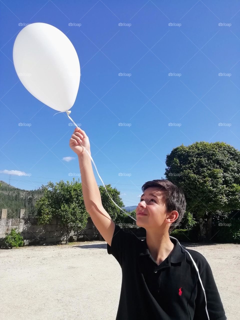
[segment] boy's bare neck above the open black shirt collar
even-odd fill
[[[168,231],[159,234],[159,230],[156,232],[146,230],[146,242],[151,256],[158,265],[169,256],[174,248]]]

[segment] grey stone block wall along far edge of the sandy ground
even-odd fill
[[[2,209],[0,217],[0,248],[3,246],[3,239],[6,233],[10,233],[12,228],[16,228],[17,232],[23,237],[23,245],[35,244],[64,244],[66,243],[66,231],[64,227],[59,224],[59,219],[52,219],[48,225],[38,225],[36,218],[26,218],[25,209],[20,210],[20,218],[7,219],[7,209]],[[134,226],[134,225],[133,225]],[[122,228],[122,225],[120,226]],[[130,228],[124,228],[125,231],[130,232]],[[131,228],[131,232],[139,237],[145,237],[145,229]],[[76,228],[71,231],[69,235],[69,242],[76,241],[105,241],[100,235],[98,229],[92,222],[91,217],[88,217],[85,229]]]

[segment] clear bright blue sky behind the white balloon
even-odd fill
[[[238,1],[0,5],[0,180],[9,183],[11,173],[11,185],[31,190],[80,173],[68,145],[75,127],[25,89],[12,62],[16,36],[35,22],[59,28],[76,49],[81,79],[71,117],[126,206],[138,204],[146,181],[164,178],[166,155],[182,143],[224,141],[239,150]]]

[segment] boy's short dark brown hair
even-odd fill
[[[142,192],[144,193],[147,188],[153,187],[163,191],[162,200],[166,206],[166,212],[176,210],[179,214],[178,219],[169,227],[168,233],[170,234],[180,223],[186,210],[184,193],[181,188],[178,188],[175,184],[166,179],[145,182],[142,186]]]

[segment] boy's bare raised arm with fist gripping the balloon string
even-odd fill
[[[86,211],[90,214],[92,222],[101,236],[111,246],[115,223],[102,206],[99,188],[92,170],[91,159],[80,143],[91,154],[88,136],[83,130],[76,128],[70,139],[69,146],[78,155]]]

